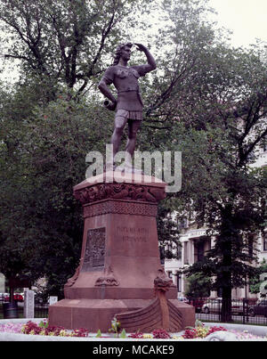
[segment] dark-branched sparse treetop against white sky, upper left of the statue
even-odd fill
[[[146,9],[136,0],[8,0],[0,2],[4,56],[19,59],[21,75],[83,94],[103,71],[107,56]]]

